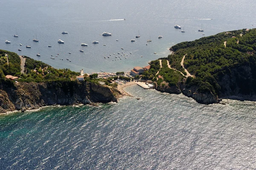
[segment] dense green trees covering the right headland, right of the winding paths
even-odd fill
[[[199,91],[215,95],[225,94],[227,90],[256,94],[256,29],[222,32],[179,43],[171,50],[175,54],[169,55],[168,60],[181,72],[180,61],[187,54],[184,66],[196,77],[186,80],[187,87],[199,86]]]

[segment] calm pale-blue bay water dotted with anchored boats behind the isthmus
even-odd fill
[[[56,68],[128,71],[167,57],[168,48],[177,43],[198,39],[203,34],[255,27],[254,3],[254,0],[1,0],[0,49],[42,60]],[[185,27],[185,33],[175,29],[176,24]],[[201,24],[204,32],[198,32]],[[12,37],[16,30],[19,37]],[[141,37],[135,38],[139,30]],[[64,31],[68,34],[62,35]],[[113,35],[103,37],[102,32]],[[35,35],[38,43],[32,42]],[[157,38],[160,35],[162,39]],[[152,42],[146,46],[149,37]],[[59,39],[65,43],[58,44]],[[131,39],[136,41],[131,43]],[[6,44],[5,40],[11,43]],[[92,44],[94,40],[99,44]],[[82,47],[81,43],[88,46]],[[27,44],[32,48],[26,49]],[[17,51],[19,48],[21,52]],[[38,52],[41,57],[36,56]],[[127,59],[112,61],[116,59],[113,53],[117,52],[128,54]],[[58,57],[52,60],[50,55],[57,53]],[[105,59],[109,54],[111,57]],[[69,58],[72,62],[58,58]]]

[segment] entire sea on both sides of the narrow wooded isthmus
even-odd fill
[[[87,73],[129,71],[167,57],[177,43],[256,25],[254,0],[0,0],[0,7],[0,49]],[[203,105],[137,85],[125,90],[134,97],[99,107],[0,115],[0,170],[256,169],[255,102]]]

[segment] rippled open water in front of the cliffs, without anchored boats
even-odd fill
[[[1,116],[0,169],[255,169],[255,102],[126,90],[135,98]]]

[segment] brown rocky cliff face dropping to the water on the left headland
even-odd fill
[[[88,82],[18,83],[2,84],[0,90],[0,112],[15,109],[36,109],[47,105],[107,103],[117,99],[116,89]]]

